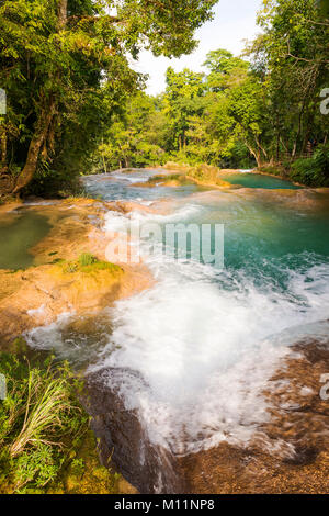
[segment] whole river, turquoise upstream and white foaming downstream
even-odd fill
[[[231,190],[140,186],[154,173],[84,179],[91,197],[155,210],[109,212],[104,231],[125,233],[132,221],[222,224],[224,268],[179,253],[163,258],[159,240],[145,253],[154,287],[109,309],[92,335],[68,332],[64,318],[34,330],[30,343],[49,343],[73,363],[83,348],[91,384],[102,400],[109,389],[116,407],[111,417],[106,407],[109,433],[100,420],[97,429],[128,480],[161,493],[179,491],[175,460],[252,444],[271,418],[264,389],[292,346],[307,336],[328,340],[329,195],[253,173],[235,175],[242,188]],[[292,442],[262,433],[269,453],[294,455]]]

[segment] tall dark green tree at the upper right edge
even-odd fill
[[[259,24],[264,35],[253,49],[266,59],[276,159],[283,154],[294,160],[310,139],[327,139],[328,122],[319,120],[318,113],[319,94],[329,80],[329,21],[315,0],[264,0],[263,4]]]

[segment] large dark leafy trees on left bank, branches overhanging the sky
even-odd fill
[[[35,177],[49,187],[88,166],[102,127],[143,79],[141,47],[179,56],[216,0],[3,0],[0,2],[1,193]]]

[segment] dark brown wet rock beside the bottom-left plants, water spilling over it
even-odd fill
[[[106,368],[86,379],[84,404],[92,416],[91,428],[99,439],[102,463],[111,459],[140,493],[184,492],[177,459],[167,449],[150,442],[138,414],[127,410],[120,392],[111,388],[114,377],[121,374],[136,373]]]

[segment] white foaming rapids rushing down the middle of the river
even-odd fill
[[[248,209],[258,221],[256,207]],[[276,277],[266,278],[253,263],[249,247],[242,248],[245,236],[239,243],[239,232],[252,236],[254,227],[262,227],[246,225],[248,212],[241,206],[230,210],[237,229],[228,239],[232,246],[238,243],[238,253],[246,253],[246,267],[218,271],[193,260],[146,254],[155,287],[111,309],[113,332],[89,367],[109,368],[109,386],[118,389],[127,410],[138,412],[149,439],[179,455],[223,440],[248,445],[259,425],[269,420],[263,391],[292,352],[290,345],[308,333],[319,339],[328,336],[328,324],[317,323],[329,313],[328,260],[315,259],[307,249],[296,254],[303,267],[294,266],[294,255],[263,259],[284,277],[281,288]],[[132,222],[195,221],[208,211],[206,204],[188,201],[168,215],[109,212],[104,229],[125,233]],[[276,235],[272,212],[263,210],[263,218]],[[261,243],[266,233],[259,235]],[[49,349],[55,343],[63,351],[58,325],[35,329],[31,344]],[[264,446],[274,449],[277,442],[266,440]]]

